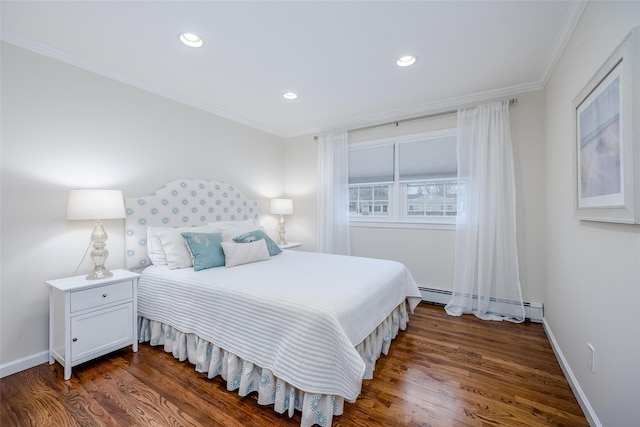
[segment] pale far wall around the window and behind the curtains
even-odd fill
[[[542,301],[544,281],[544,96],[541,91],[518,95],[510,107],[516,164],[518,251],[523,294]],[[454,128],[455,114],[349,133],[349,142]],[[306,206],[288,221],[290,240],[315,249],[317,143],[312,135],[286,141],[286,192]],[[352,254],[393,259],[405,264],[421,286],[451,290],[454,230],[351,228]]]

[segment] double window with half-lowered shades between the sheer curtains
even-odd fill
[[[457,213],[455,129],[349,149],[354,221],[453,224]]]

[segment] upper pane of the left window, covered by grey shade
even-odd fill
[[[393,181],[393,145],[349,150],[349,184]]]

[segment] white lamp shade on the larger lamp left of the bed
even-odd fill
[[[71,190],[67,219],[118,219],[125,217],[120,190]]]

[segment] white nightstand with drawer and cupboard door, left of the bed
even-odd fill
[[[108,279],[49,280],[49,364],[71,367],[131,345],[138,351],[137,273],[115,270]]]

